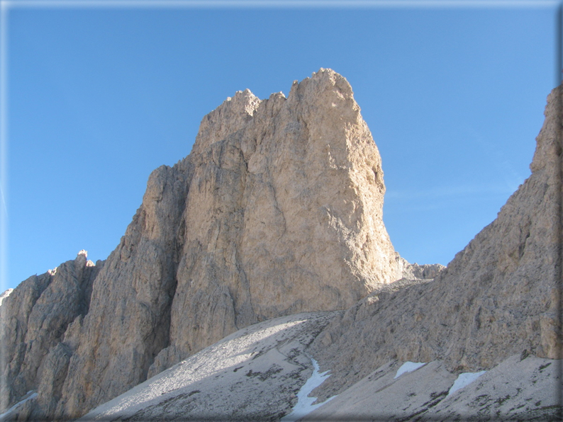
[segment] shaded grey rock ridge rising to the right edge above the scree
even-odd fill
[[[333,370],[322,397],[393,359],[474,372],[562,358],[562,99],[563,86],[548,97],[530,178],[445,271],[373,292],[320,334],[313,355]]]

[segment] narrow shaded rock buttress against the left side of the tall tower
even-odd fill
[[[55,414],[77,416],[147,377],[169,341],[185,175],[152,172],[143,205],[94,281]]]

